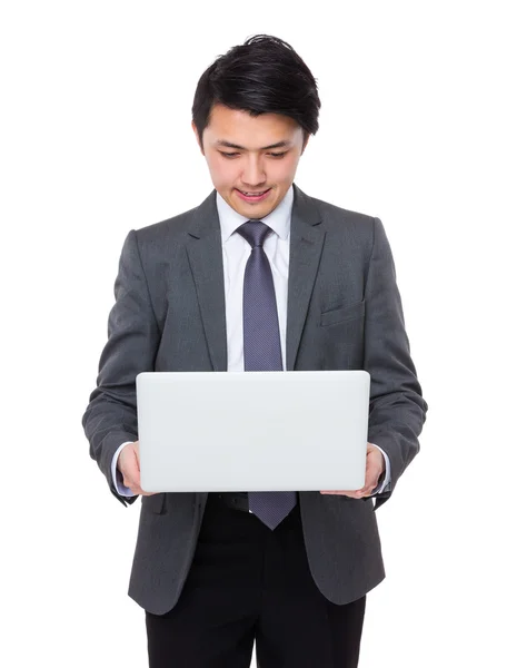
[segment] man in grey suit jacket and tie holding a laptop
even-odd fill
[[[130,230],[121,252],[82,423],[113,495],[142,497],[129,596],[146,610],[152,668],[246,668],[254,640],[261,668],[355,667],[366,593],[385,577],[375,510],[418,452],[428,406],[381,222],[294,183],[319,108],[287,42],[230,49],[192,107],[215,189]],[[143,492],[137,374],[259,369],[370,373],[365,487]]]

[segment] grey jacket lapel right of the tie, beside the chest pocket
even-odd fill
[[[326,233],[310,198],[294,184],[287,301],[287,371],[294,371]]]

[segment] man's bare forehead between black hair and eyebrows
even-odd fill
[[[280,114],[251,116],[248,111],[215,105],[205,134],[216,145],[266,148],[280,141],[292,144],[298,134],[302,135],[302,128],[292,118]]]

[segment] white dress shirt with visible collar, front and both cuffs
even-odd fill
[[[286,371],[286,332],[287,332],[287,292],[289,277],[290,250],[290,218],[292,213],[294,188],[287,190],[280,204],[270,214],[262,218],[272,232],[268,234],[264,249],[271,266],[275,294],[277,299],[278,323],[280,328],[281,360]],[[242,292],[243,276],[247,261],[250,257],[251,246],[236,229],[249,220],[238,214],[217,193],[217,208],[220,220],[222,256],[223,256],[223,284],[226,293],[226,323],[227,323],[227,371],[245,371],[243,363],[243,332],[242,332]],[[117,491],[123,497],[133,493],[122,484],[122,475],[117,470],[117,461],[121,450],[131,443],[122,443],[112,459],[111,471]],[[375,443],[372,443],[375,445]],[[378,445],[376,445],[378,448]],[[390,464],[387,454],[378,448],[386,463],[384,482],[372,493],[382,492],[390,482]]]

